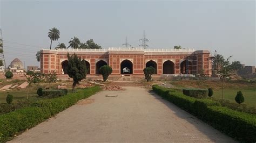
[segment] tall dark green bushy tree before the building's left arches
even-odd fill
[[[72,91],[75,90],[76,84],[86,78],[86,63],[85,60],[78,58],[76,54],[68,54],[68,75],[73,78]]]

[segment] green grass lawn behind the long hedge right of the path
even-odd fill
[[[214,98],[222,98],[222,83],[219,80],[214,81],[172,81],[172,85],[179,89],[183,88],[213,88]],[[245,97],[244,104],[256,108],[256,83],[248,83],[244,81],[225,81],[224,83],[224,99],[235,103],[235,96],[238,91],[242,91]]]

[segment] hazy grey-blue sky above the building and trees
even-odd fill
[[[35,54],[50,47],[52,27],[60,31],[53,48],[74,36],[103,48],[122,47],[127,36],[138,47],[145,30],[152,49],[216,50],[256,66],[254,1],[0,1],[6,66],[15,58],[39,66]]]

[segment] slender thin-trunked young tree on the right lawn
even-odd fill
[[[230,65],[230,58],[232,56],[228,57],[226,60],[221,60],[219,63],[219,68],[217,70],[217,74],[219,74],[221,80],[222,80],[222,99],[223,99],[223,92],[224,92],[224,80],[225,78],[229,77],[232,73],[232,68]]]

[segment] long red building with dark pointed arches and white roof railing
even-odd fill
[[[66,74],[67,54],[76,53],[86,61],[89,75],[99,74],[103,65],[112,67],[112,75],[143,75],[145,67],[157,69],[157,75],[197,74],[204,68],[211,75],[210,52],[194,49],[43,49],[41,72],[55,70],[57,74]]]

